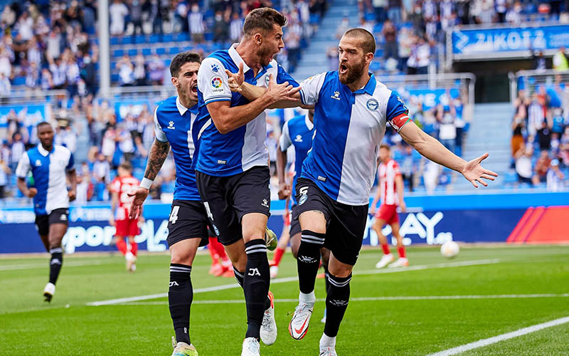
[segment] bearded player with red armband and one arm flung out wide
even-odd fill
[[[369,73],[376,52],[371,33],[363,28],[346,31],[338,48],[339,69],[304,80],[299,95],[294,95],[300,103],[314,105],[316,133],[296,187],[293,219],[299,219],[302,230],[297,258],[300,294],[289,333],[295,339],[307,333],[316,300],[320,248],[329,248],[330,288],[321,356],[336,355],[336,335],[349,302],[351,271],[366,228],[387,122],[421,155],[460,172],[474,187],[487,186],[483,179],[497,176],[480,165],[488,154],[466,162],[410,120],[403,100]]]

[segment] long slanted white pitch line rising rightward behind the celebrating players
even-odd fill
[[[367,271],[354,271],[353,274],[355,275],[368,275],[368,274],[378,274],[378,273],[398,273],[398,272],[405,272],[405,271],[421,271],[424,269],[429,268],[447,268],[447,267],[462,267],[462,266],[479,266],[479,265],[486,265],[492,263],[499,263],[499,259],[489,259],[489,260],[474,260],[474,261],[462,261],[462,262],[447,262],[447,263],[436,263],[432,265],[418,265],[418,266],[410,266],[410,267],[399,267],[399,268],[388,268],[385,270],[367,270]],[[271,284],[278,284],[278,283],[287,283],[287,282],[295,282],[298,281],[298,277],[286,277],[286,278],[275,278],[271,280]],[[213,286],[213,287],[206,287],[206,288],[197,288],[193,290],[193,293],[206,293],[206,292],[215,292],[218,290],[225,290],[225,289],[233,289],[233,288],[241,288],[238,283],[231,283],[231,284],[224,284],[221,286]],[[127,298],[117,298],[117,299],[110,299],[110,300],[99,300],[95,302],[87,303],[88,306],[100,306],[100,305],[112,305],[112,304],[123,304],[129,302],[136,302],[139,300],[148,300],[148,299],[157,299],[157,298],[166,298],[168,293],[159,293],[159,294],[151,294],[151,295],[139,295],[136,297],[127,297]]]

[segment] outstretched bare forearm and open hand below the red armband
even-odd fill
[[[480,164],[488,157],[487,153],[472,159],[470,162],[466,162],[464,159],[447,150],[447,148],[435,140],[434,137],[423,132],[415,125],[415,122],[407,122],[403,125],[399,130],[399,135],[403,137],[405,142],[413,146],[415,150],[432,162],[442,164],[462,174],[467,181],[472,183],[474,188],[478,188],[477,183],[487,187],[488,184],[484,182],[483,179],[494,180],[494,177],[498,177],[497,173],[484,169]]]

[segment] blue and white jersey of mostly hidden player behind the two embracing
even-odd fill
[[[297,204],[295,197],[295,187],[297,179],[302,172],[302,163],[312,147],[312,135],[314,135],[314,124],[307,115],[299,115],[282,125],[282,134],[279,139],[279,146],[282,152],[286,152],[291,145],[294,146],[294,179],[292,179],[292,201]]]

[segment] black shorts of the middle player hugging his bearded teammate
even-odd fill
[[[252,167],[229,177],[216,177],[196,171],[201,200],[211,224],[219,231],[218,240],[227,246],[243,239],[243,215],[270,216],[271,193],[268,167]],[[216,231],[217,232],[217,231]]]

